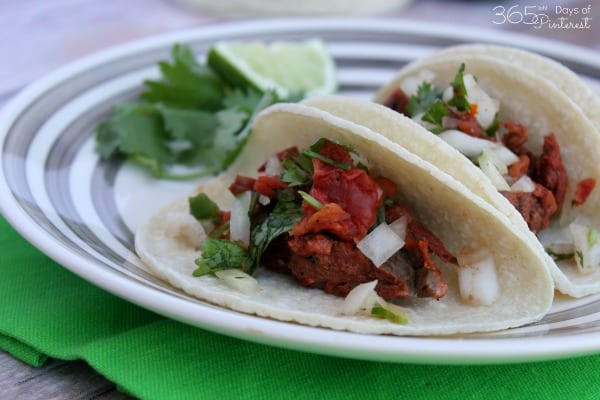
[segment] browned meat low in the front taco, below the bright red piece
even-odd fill
[[[405,207],[396,204],[390,209],[388,216],[393,219],[402,215],[409,218],[406,244],[398,255],[414,269],[414,282],[406,282],[385,265],[376,267],[353,242],[328,233],[285,235],[285,240],[271,244],[262,262],[271,269],[291,273],[302,285],[338,296],[377,279],[375,290],[386,300],[408,297],[411,286],[420,297],[442,298],[448,285],[431,255],[453,264],[457,264],[456,257]]]

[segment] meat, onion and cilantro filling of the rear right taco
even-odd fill
[[[519,211],[534,233],[548,228],[565,201],[569,177],[560,145],[553,133],[543,138],[540,154],[528,148],[527,127],[519,121],[499,120],[500,102],[491,98],[463,63],[448,87],[435,86],[435,74],[421,70],[404,79],[384,105],[404,114],[471,159],[496,189]],[[586,178],[575,183],[570,206],[585,203],[596,186]],[[595,228],[573,222],[571,244],[548,246],[554,258],[574,258],[580,271],[600,264],[600,242]],[[575,233],[585,231],[585,234]],[[597,254],[597,255],[596,255]]]

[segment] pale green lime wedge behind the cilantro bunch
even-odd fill
[[[208,52],[208,64],[233,85],[272,89],[280,98],[330,94],[337,88],[335,63],[317,39],[270,45],[218,42]]]

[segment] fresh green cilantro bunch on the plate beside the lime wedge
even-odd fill
[[[135,101],[113,108],[96,129],[102,160],[128,158],[155,177],[190,179],[227,168],[247,140],[255,115],[274,92],[232,86],[192,50],[175,45]]]

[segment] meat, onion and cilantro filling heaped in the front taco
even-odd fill
[[[257,178],[237,176],[229,190],[230,212],[205,194],[190,199],[194,216],[212,221],[196,276],[227,268],[252,274],[260,264],[336,296],[377,281],[384,300],[440,299],[448,286],[434,259],[458,265],[399,202],[395,183],[327,139],[270,157]]]

